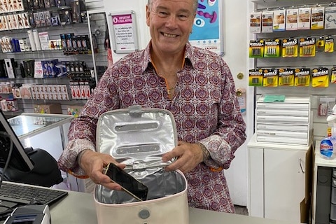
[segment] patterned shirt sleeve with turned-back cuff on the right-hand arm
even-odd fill
[[[235,158],[235,151],[246,140],[246,123],[241,116],[235,82],[223,60],[221,73],[223,84],[218,125],[213,134],[200,141],[210,153],[210,157],[204,163],[213,169],[228,169]]]

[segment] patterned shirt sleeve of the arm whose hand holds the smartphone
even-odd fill
[[[83,169],[78,165],[77,156],[85,149],[96,151],[98,118],[102,113],[110,109],[116,109],[116,104],[107,103],[117,102],[115,99],[116,92],[110,91],[111,89],[116,89],[113,88],[116,83],[112,81],[111,71],[111,69],[106,70],[104,76],[99,80],[99,85],[94,89],[91,98],[87,100],[80,112],[80,116],[71,122],[68,132],[69,143],[58,160],[59,169],[64,172],[69,172],[78,177],[87,177]]]

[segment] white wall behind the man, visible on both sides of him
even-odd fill
[[[134,10],[137,15],[137,28],[139,38],[139,48],[145,48],[150,35],[146,25],[145,6],[147,0],[127,0],[116,3],[116,1],[103,0],[106,9],[106,15],[111,12],[119,12],[124,10]],[[224,1],[224,0],[218,0]],[[248,2],[248,1],[247,1]],[[236,87],[246,87],[246,59],[247,59],[247,11],[248,3],[246,0],[226,0],[223,3],[223,19],[224,19],[224,48],[225,55],[223,59],[228,63],[235,78]],[[110,28],[111,30],[111,28]],[[115,54],[113,52],[113,62],[125,55]],[[244,73],[244,78],[237,79],[238,73]],[[251,94],[248,94],[251,97]],[[253,109],[253,107],[252,107]],[[247,110],[248,115],[253,116],[253,111]],[[245,120],[247,119],[244,116]],[[253,117],[252,117],[253,119]],[[248,139],[251,134],[248,132]],[[247,141],[246,141],[247,143]],[[232,161],[230,169],[225,173],[228,179],[230,194],[234,204],[247,205],[247,151],[246,144],[241,146],[235,153],[236,158]]]

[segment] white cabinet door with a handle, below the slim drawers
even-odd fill
[[[264,148],[265,218],[300,222],[306,150]]]

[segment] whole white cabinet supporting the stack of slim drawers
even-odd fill
[[[311,146],[248,143],[248,214],[300,223]]]

